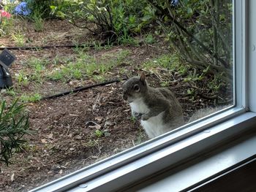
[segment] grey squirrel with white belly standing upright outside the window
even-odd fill
[[[144,73],[129,78],[122,87],[132,115],[140,119],[150,139],[184,125],[182,107],[173,92],[168,88],[150,87]]]

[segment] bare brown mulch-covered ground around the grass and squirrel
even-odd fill
[[[87,31],[71,26],[67,21],[49,20],[45,30],[34,32],[30,23],[26,23],[26,46],[74,45],[90,42],[94,37]],[[15,47],[10,37],[0,37],[1,47]],[[167,47],[161,41],[156,45],[139,47],[111,47],[108,50],[89,50],[92,55],[115,53],[117,50],[129,50],[129,61],[109,73],[109,79],[124,78],[120,74],[124,68],[129,74],[140,73],[138,66],[149,58],[167,53]],[[55,47],[44,50],[11,50],[17,56],[11,73],[23,68],[26,58],[35,56],[54,58],[56,55],[72,55],[69,47]],[[159,86],[159,77],[146,73],[148,82]],[[178,80],[178,77],[174,77]],[[92,85],[94,80],[84,80],[80,84],[49,81],[40,87],[40,93],[50,96],[67,91],[80,85]],[[1,164],[0,191],[29,191],[51,180],[64,176],[89,164],[93,164],[124,149],[147,140],[138,121],[131,120],[129,104],[122,99],[121,82],[89,88],[78,93],[53,99],[42,99],[27,105],[32,134],[26,136],[28,144],[13,155],[10,166]],[[213,99],[198,96],[191,101],[187,96],[186,82],[173,81],[170,85],[184,109],[186,120],[198,108],[213,106]],[[24,91],[33,91],[29,85]],[[8,99],[8,98],[7,98]],[[227,98],[229,99],[229,98]],[[99,130],[97,132],[97,130]],[[100,133],[101,135],[98,135]]]

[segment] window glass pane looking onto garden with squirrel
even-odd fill
[[[0,56],[0,191],[233,104],[232,1],[81,2],[2,3],[0,47],[16,61]]]

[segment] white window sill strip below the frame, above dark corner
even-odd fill
[[[255,125],[256,127],[256,125]],[[224,172],[238,166],[246,159],[255,158],[256,134],[245,135],[217,151],[170,169],[157,177],[145,180],[126,191],[176,192],[193,191],[203,183],[221,177]]]

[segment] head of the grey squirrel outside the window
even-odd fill
[[[146,76],[144,73],[140,77],[131,77],[124,82],[123,98],[131,103],[135,99],[140,99],[147,91]]]

